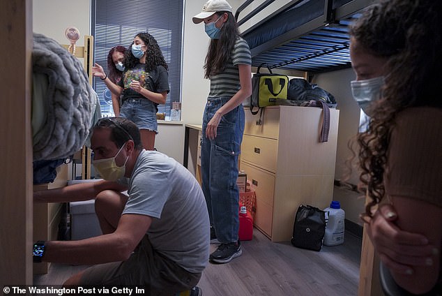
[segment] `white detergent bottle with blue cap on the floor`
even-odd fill
[[[336,246],[344,243],[344,219],[345,212],[341,209],[340,202],[333,200],[330,207],[324,209],[328,222],[323,244],[326,246]]]

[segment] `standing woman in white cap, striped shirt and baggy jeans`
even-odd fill
[[[241,103],[252,93],[252,59],[227,1],[209,0],[192,21],[204,22],[211,38],[204,64],[211,89],[203,115],[201,179],[211,221],[211,242],[220,243],[210,260],[226,263],[242,253],[236,179],[245,124]]]

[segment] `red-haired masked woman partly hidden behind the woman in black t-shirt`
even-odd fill
[[[126,49],[121,45],[116,45],[109,50],[107,54],[107,68],[109,69],[109,79],[115,84],[121,80],[123,75],[124,56]],[[112,93],[112,108],[116,117],[120,116],[120,96]]]

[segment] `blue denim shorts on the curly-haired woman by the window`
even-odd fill
[[[157,111],[148,98],[128,98],[121,105],[120,116],[133,121],[139,129],[158,133]]]

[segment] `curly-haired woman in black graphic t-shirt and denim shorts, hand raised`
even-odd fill
[[[155,38],[148,33],[137,34],[125,53],[123,66],[123,77],[117,84],[98,64],[92,69],[93,75],[100,77],[112,93],[123,95],[120,116],[137,124],[143,148],[153,150],[158,133],[157,106],[166,103],[169,93],[167,64]]]

